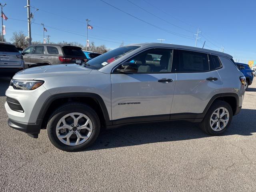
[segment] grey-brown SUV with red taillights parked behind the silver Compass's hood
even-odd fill
[[[82,48],[69,45],[32,45],[26,48],[22,55],[26,68],[54,64],[83,64],[87,61]]]

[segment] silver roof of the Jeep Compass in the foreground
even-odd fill
[[[140,43],[140,44],[130,44],[129,46],[167,47],[167,48],[174,48],[174,49],[184,49],[184,50],[205,52],[205,53],[228,57],[230,59],[233,58],[231,55],[223,53],[223,52],[209,50],[209,49],[203,49],[203,48],[198,48],[198,47],[184,46],[184,45],[175,45],[175,44],[166,44],[166,43]]]

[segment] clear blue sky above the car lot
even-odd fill
[[[199,27],[198,47],[231,54],[235,60],[248,63],[256,60],[256,1],[252,0],[104,0],[117,8],[148,22],[142,22],[100,0],[30,0],[36,11],[32,40],[43,40],[40,23],[45,24],[50,41],[86,44],[86,18],[94,28],[88,30],[90,42],[108,48],[140,42],[159,42],[195,46],[194,35]],[[27,34],[26,0],[5,0],[6,40],[14,31]],[[150,14],[134,4],[142,7]],[[34,12],[34,8],[31,8]],[[38,24],[36,24],[38,23]],[[153,26],[152,26],[153,25]],[[159,29],[160,28],[160,29]]]

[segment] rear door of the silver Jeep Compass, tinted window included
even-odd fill
[[[174,64],[177,82],[171,119],[195,118],[194,115],[203,113],[214,95],[222,92],[222,81],[216,71],[216,68],[221,68],[220,60],[205,53],[175,50]]]

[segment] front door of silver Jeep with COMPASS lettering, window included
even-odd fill
[[[176,84],[176,74],[170,72],[171,60],[172,50],[150,49],[126,61],[137,66],[136,74],[114,70],[111,74],[113,124],[170,119]]]

